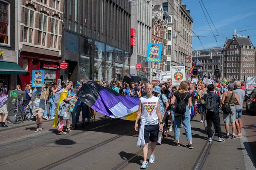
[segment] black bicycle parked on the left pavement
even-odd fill
[[[26,100],[17,97],[16,99],[13,99],[13,102],[15,102],[15,107],[9,110],[7,117],[8,121],[12,122],[13,124],[19,124],[20,122],[24,121],[25,118],[28,121],[31,120],[32,111],[30,108],[26,109]],[[20,108],[19,104],[23,105],[23,109]]]

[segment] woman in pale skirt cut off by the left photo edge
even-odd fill
[[[5,124],[6,118],[8,116],[6,100],[7,100],[7,89],[6,87],[2,87],[0,91],[0,126],[1,127],[8,127]],[[2,121],[2,116],[3,116],[3,121]]]

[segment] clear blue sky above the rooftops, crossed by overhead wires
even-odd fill
[[[201,1],[204,3],[218,33]],[[199,0],[182,0],[182,2],[190,10],[190,16],[194,20],[193,32],[200,37],[204,46],[202,46],[198,37],[195,37],[193,34],[192,50],[223,46],[226,37],[228,39],[233,37],[234,28],[236,28],[236,34],[250,36],[253,46],[256,46],[256,0],[200,0],[213,34],[204,16]],[[217,36],[218,45],[213,35],[221,35]]]

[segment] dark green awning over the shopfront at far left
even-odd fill
[[[21,68],[17,63],[0,61],[0,74],[26,74],[26,70]]]

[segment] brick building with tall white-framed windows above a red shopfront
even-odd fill
[[[45,71],[45,84],[60,77],[63,1],[19,1],[19,63],[22,89],[32,81],[32,70]]]

